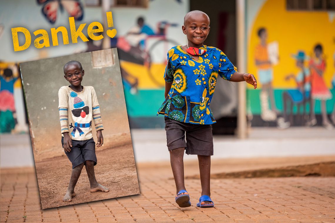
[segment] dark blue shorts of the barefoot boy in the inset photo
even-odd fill
[[[62,136],[62,146],[64,137]],[[96,165],[96,155],[95,155],[95,142],[93,138],[88,140],[74,140],[72,139],[72,147],[70,152],[65,152],[67,157],[72,163],[72,169],[81,163],[85,163],[86,160],[94,161]]]

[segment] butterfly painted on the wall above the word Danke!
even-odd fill
[[[70,17],[75,20],[82,20],[84,11],[79,0],[37,0],[39,5],[43,5],[42,14],[50,23],[55,23],[58,9],[61,12],[67,11]]]

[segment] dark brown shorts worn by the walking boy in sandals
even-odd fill
[[[168,117],[164,120],[169,151],[185,147],[189,155],[213,155],[212,125],[184,123]]]

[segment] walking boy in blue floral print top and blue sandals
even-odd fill
[[[221,50],[203,45],[210,30],[209,22],[202,11],[185,15],[182,30],[188,43],[168,52],[165,101],[157,112],[165,116],[167,147],[177,189],[175,200],[180,207],[191,206],[184,184],[184,150],[198,155],[202,196],[197,206],[214,206],[210,199],[210,156],[213,155],[211,124],[216,121],[209,104],[217,76],[233,82],[246,81],[257,88],[254,75],[238,73]]]

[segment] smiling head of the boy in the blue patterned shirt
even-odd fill
[[[200,47],[209,34],[209,18],[202,12],[190,13],[186,15],[182,29],[187,36],[189,46]]]

